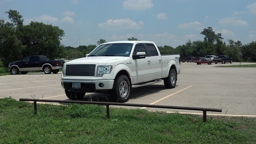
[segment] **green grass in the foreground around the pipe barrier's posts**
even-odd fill
[[[256,119],[0,99],[0,144],[256,144]]]

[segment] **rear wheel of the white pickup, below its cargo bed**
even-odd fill
[[[176,74],[175,69],[171,69],[169,71],[168,77],[164,78],[164,86],[167,89],[172,89],[176,86],[176,82],[177,82],[176,75],[177,74]]]

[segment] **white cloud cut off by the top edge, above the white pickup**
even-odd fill
[[[124,9],[146,10],[153,6],[151,0],[126,0],[123,2]]]

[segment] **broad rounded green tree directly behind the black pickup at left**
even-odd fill
[[[20,39],[22,44],[26,45],[23,55],[46,55],[49,59],[59,57],[64,48],[60,46],[64,34],[58,26],[30,22],[20,29]]]

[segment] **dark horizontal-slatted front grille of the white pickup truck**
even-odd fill
[[[66,65],[66,76],[91,76],[95,73],[95,65]]]

